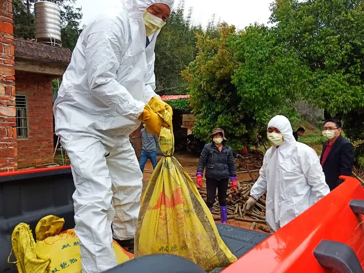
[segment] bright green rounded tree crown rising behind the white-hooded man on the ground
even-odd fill
[[[275,114],[293,113],[305,69],[294,50],[287,50],[275,31],[257,24],[231,36],[229,46],[238,62],[232,79],[241,98],[239,109],[264,126]]]

